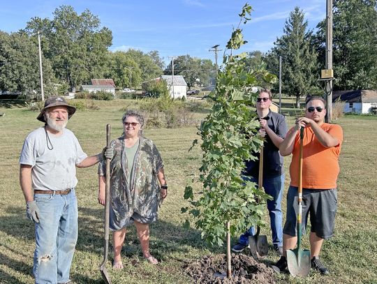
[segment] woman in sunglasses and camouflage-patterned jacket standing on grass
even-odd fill
[[[110,230],[114,247],[114,269],[122,269],[121,248],[126,227],[135,223],[142,253],[151,264],[158,260],[149,253],[149,224],[157,219],[158,203],[168,194],[163,160],[154,143],[142,136],[144,118],[128,110],[122,123],[124,133],[112,140],[110,162]],[[105,163],[98,167],[98,202],[105,204]],[[158,186],[158,182],[161,186]]]

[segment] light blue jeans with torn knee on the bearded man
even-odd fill
[[[40,211],[36,225],[33,273],[36,283],[66,283],[77,241],[75,190],[67,195],[35,194]]]

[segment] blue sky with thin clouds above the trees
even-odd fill
[[[100,18],[102,26],[112,31],[112,51],[157,50],[165,62],[184,54],[214,61],[210,47],[220,45],[219,49],[224,50],[244,3],[245,0],[10,0],[1,1],[0,29],[8,33],[23,29],[31,17],[52,19],[56,8],[70,5],[78,14],[89,9]],[[249,43],[242,51],[271,49],[276,37],[283,34],[284,22],[295,6],[304,10],[311,29],[326,13],[326,0],[249,3],[253,7],[252,20],[243,28]],[[219,62],[222,55],[223,51]]]

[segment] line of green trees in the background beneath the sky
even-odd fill
[[[325,20],[318,31],[308,29],[304,12],[296,7],[267,53],[249,52],[246,68],[267,67],[279,74],[282,57],[282,91],[298,99],[322,94],[316,80],[325,66]],[[0,31],[0,89],[40,93],[38,37],[41,34],[43,79],[46,93],[72,91],[91,78],[112,78],[119,88],[141,87],[162,74],[172,74],[172,61],[165,67],[158,51],[110,52],[112,32],[89,10],[77,15],[72,6],[60,6],[52,20],[31,18],[25,29]],[[377,0],[334,0],[334,89],[377,89]],[[182,55],[174,59],[175,75],[183,75],[188,89],[195,84],[214,84],[214,63]],[[278,85],[271,87],[275,91]],[[59,93],[61,94],[61,93]]]

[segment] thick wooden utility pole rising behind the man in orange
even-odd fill
[[[325,68],[332,70],[332,0],[326,1],[326,56]],[[326,122],[332,119],[332,80],[326,84]]]

